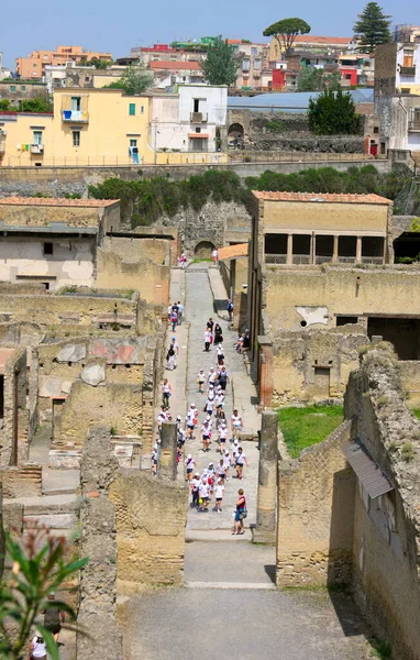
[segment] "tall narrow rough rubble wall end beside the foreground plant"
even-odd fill
[[[77,660],[122,660],[117,620],[115,510],[108,497],[118,462],[111,454],[110,432],[96,428],[86,439],[80,469],[80,557],[89,561],[80,573]]]

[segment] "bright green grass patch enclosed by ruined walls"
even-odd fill
[[[278,425],[292,459],[297,459],[307,447],[325,440],[342,421],[343,406],[308,406],[278,410]]]

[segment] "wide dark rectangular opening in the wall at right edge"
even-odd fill
[[[420,359],[420,319],[368,317],[367,336],[374,334],[394,344],[400,360]]]

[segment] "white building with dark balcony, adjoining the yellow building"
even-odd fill
[[[228,87],[179,85],[178,94],[155,95],[150,144],[157,151],[215,152],[226,124]]]

